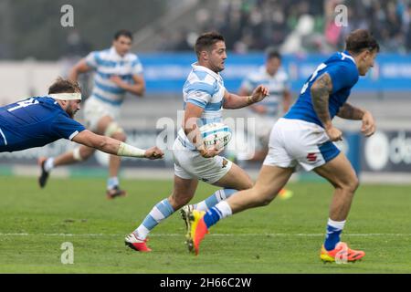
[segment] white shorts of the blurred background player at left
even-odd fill
[[[112,120],[120,117],[120,106],[97,99],[93,95],[84,103],[84,120],[89,130],[96,131],[102,117],[109,116]]]

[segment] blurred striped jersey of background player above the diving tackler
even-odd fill
[[[111,81],[111,76],[117,75],[123,81],[132,84],[133,75],[142,75],[139,57],[132,53],[121,57],[114,47],[91,52],[86,57],[86,62],[95,71],[91,96],[111,105],[120,106],[126,93],[125,89]]]

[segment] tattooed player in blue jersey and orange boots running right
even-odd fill
[[[354,262],[364,257],[364,251],[340,241],[359,182],[351,163],[333,144],[342,140],[342,131],[333,126],[332,119],[362,120],[363,134],[373,135],[372,114],[347,99],[358,78],[374,66],[378,52],[374,36],[358,29],[347,37],[343,52],[333,54],[315,70],[302,87],[300,98],[271,130],[269,153],[254,187],[217,203],[206,213],[194,210],[188,214],[189,248],[193,246],[190,249],[195,254],[210,226],[231,214],[269,204],[291,174],[302,167],[318,173],[334,187],[321,260]]]

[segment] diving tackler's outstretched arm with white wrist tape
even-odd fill
[[[97,135],[90,130],[80,131],[79,134],[74,136],[72,141],[117,156],[139,157],[153,160],[163,158],[164,155],[163,151],[155,146],[148,150],[142,150],[110,137]]]

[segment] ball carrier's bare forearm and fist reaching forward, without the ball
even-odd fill
[[[261,101],[267,96],[269,96],[269,89],[263,85],[258,85],[249,96],[238,96],[237,94],[226,91],[223,107],[228,110],[241,109]]]

